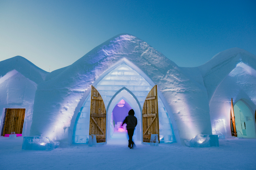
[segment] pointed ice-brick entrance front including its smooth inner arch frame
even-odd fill
[[[125,62],[119,63],[119,65],[116,65],[115,68],[112,68],[104,73],[92,84],[101,95],[105,106],[107,106],[105,126],[106,141],[110,139],[109,128],[111,122],[111,113],[116,104],[122,99],[129,103],[129,105],[135,111],[135,115],[138,119],[138,125],[134,132],[134,139],[139,141],[142,140],[142,106],[145,103],[148,93],[151,91],[153,86],[155,86],[155,84],[151,82],[146,75],[142,74],[141,70],[138,70],[138,68],[136,69],[135,66],[132,66],[132,64],[127,64]],[[88,89],[82,100],[83,101],[81,101],[79,111],[74,120],[74,128],[72,133],[73,143],[88,143],[91,107],[90,89]],[[175,124],[175,119],[174,117],[169,117],[169,115],[172,116],[172,113],[161,93],[158,93],[157,105],[160,142],[176,142],[175,134],[178,134],[178,131]],[[171,119],[174,121],[174,124],[172,124]],[[172,127],[173,125],[177,131],[175,134],[173,130],[174,128]]]

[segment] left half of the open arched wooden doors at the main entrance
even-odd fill
[[[89,135],[95,134],[97,143],[106,141],[106,108],[101,95],[92,86]]]

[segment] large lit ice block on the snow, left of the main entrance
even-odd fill
[[[27,136],[23,137],[22,149],[53,150],[54,142],[47,136]]]

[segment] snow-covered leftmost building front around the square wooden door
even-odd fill
[[[25,109],[23,135],[29,135],[37,83],[43,82],[47,72],[27,59],[16,56],[0,62],[0,129],[6,108]]]

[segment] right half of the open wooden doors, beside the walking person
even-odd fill
[[[158,134],[159,121],[157,104],[157,85],[148,93],[142,109],[143,142],[150,142],[151,134]]]

